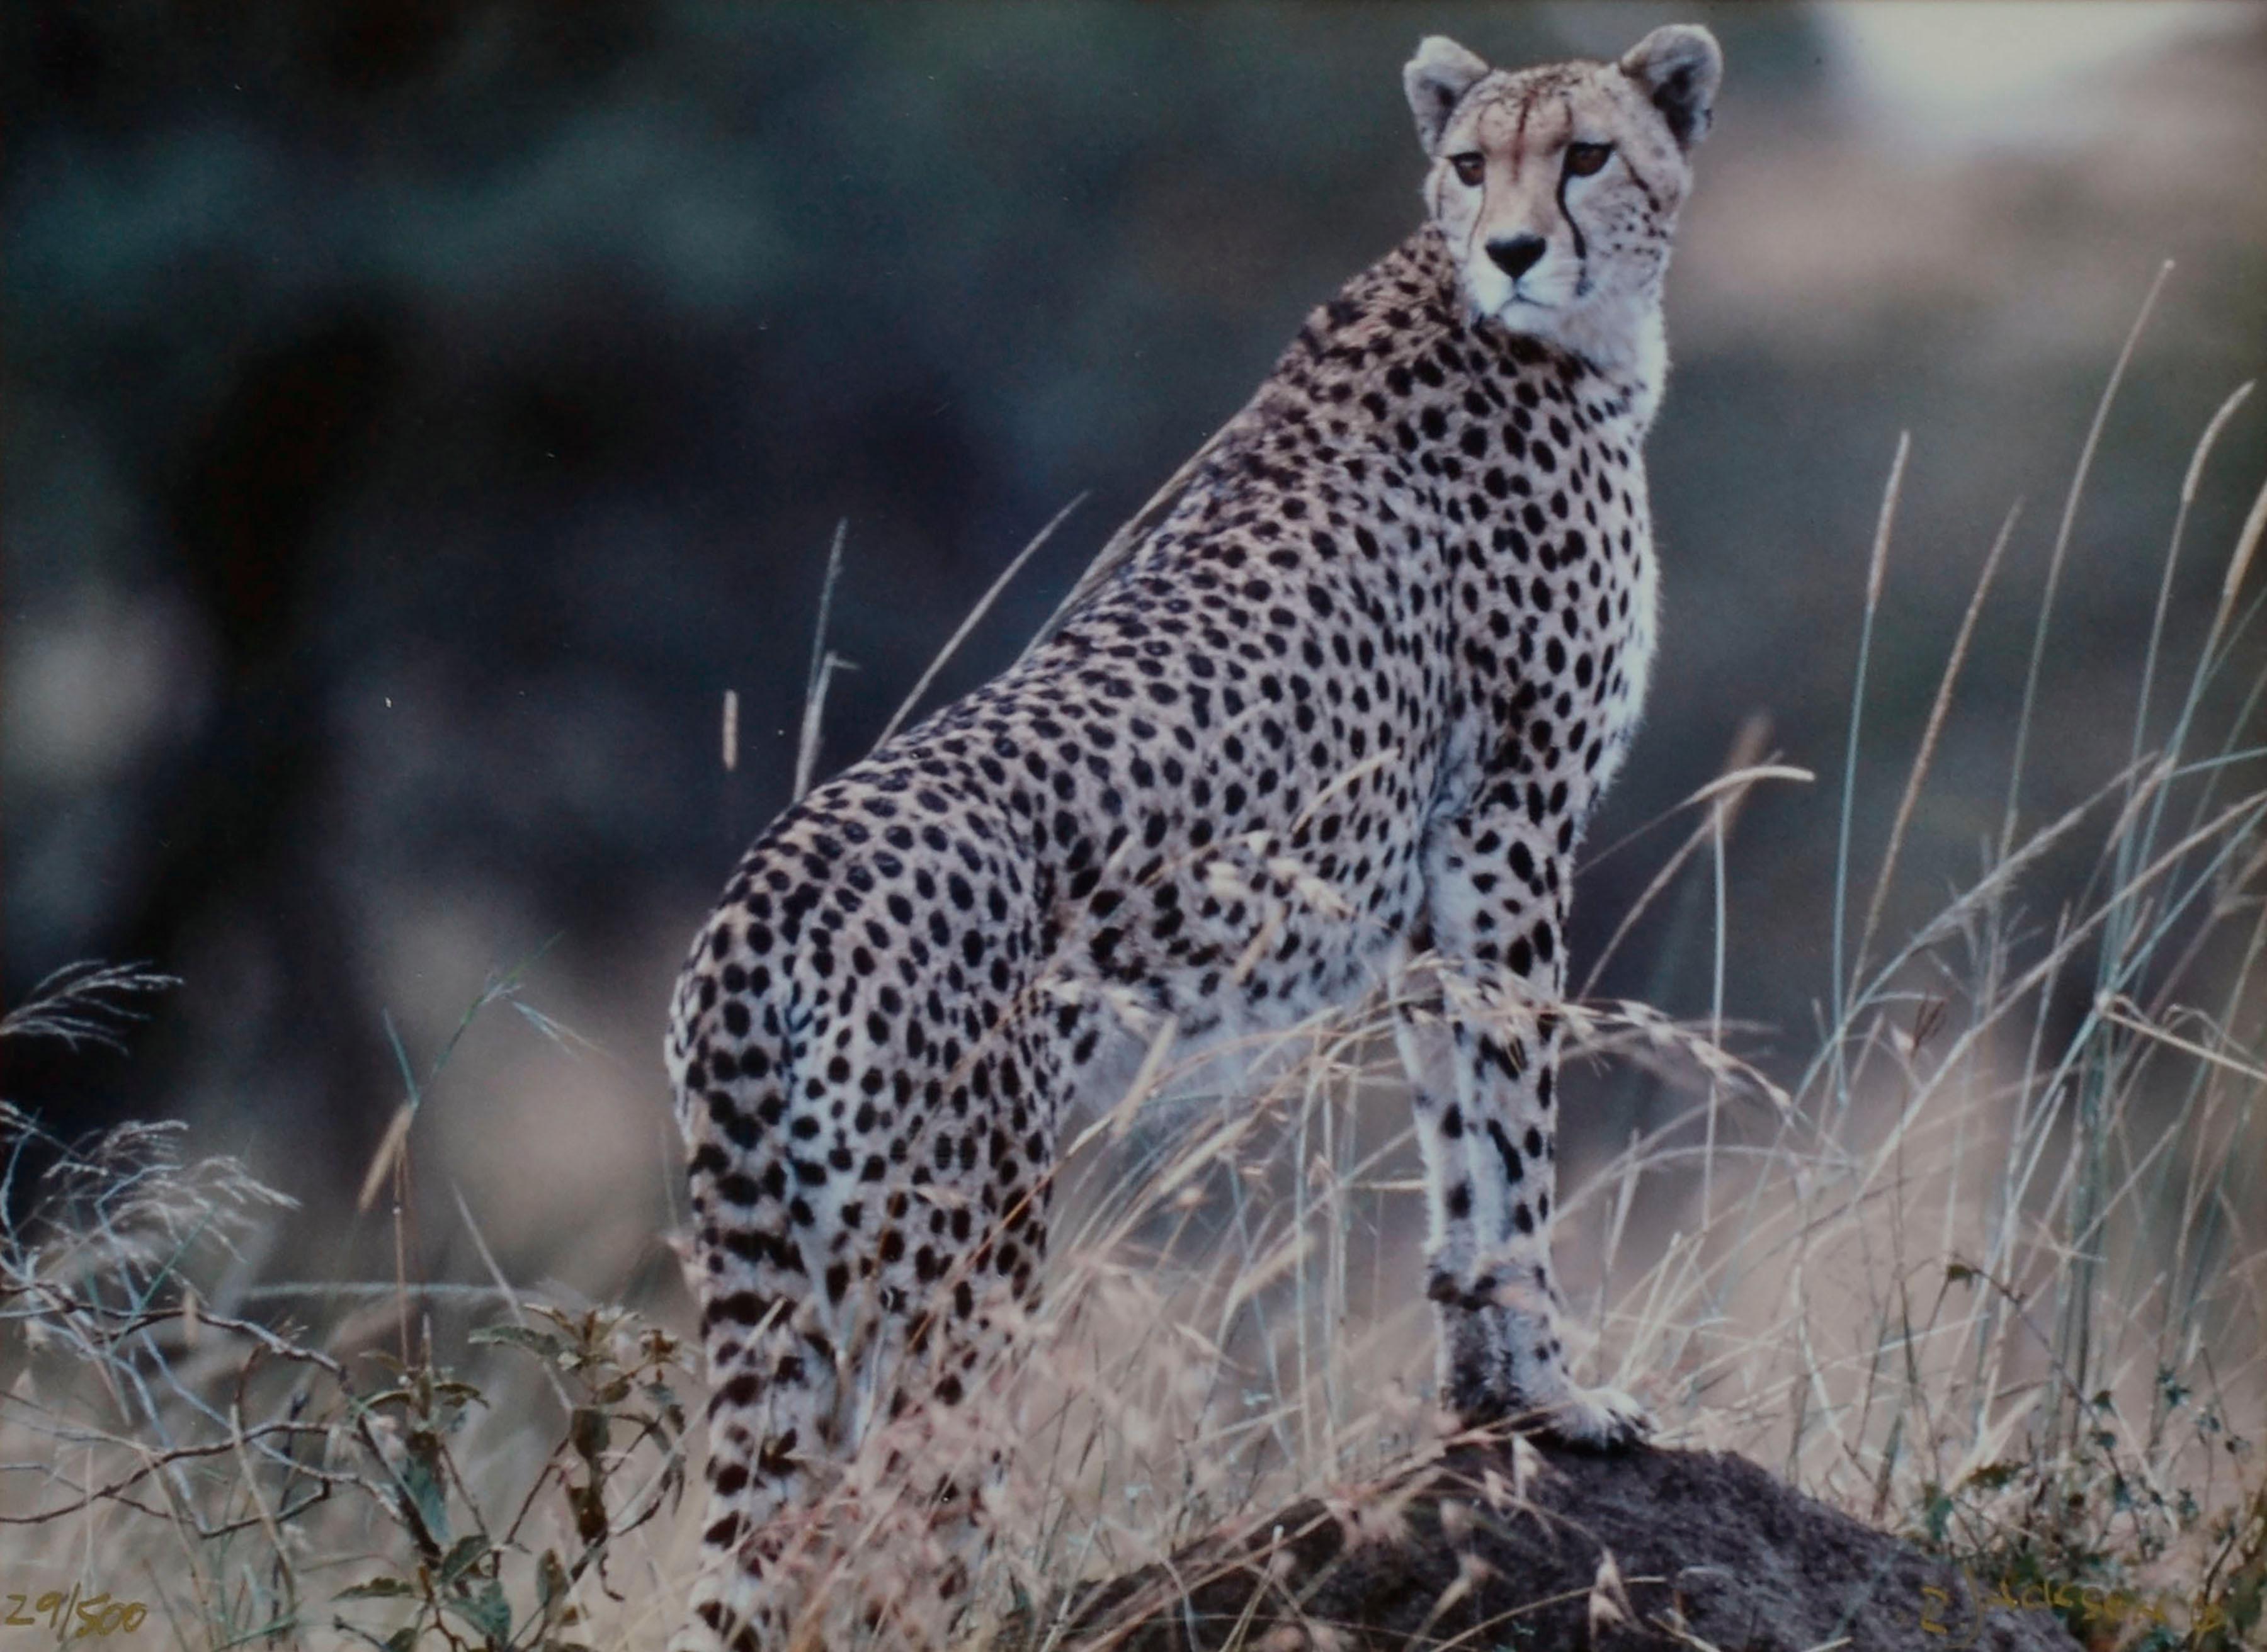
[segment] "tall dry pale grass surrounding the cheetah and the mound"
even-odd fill
[[[2167,589],[2222,426],[2183,487]],[[2242,746],[2267,684],[2231,680],[2262,512],[2267,494],[2176,696],[2154,682],[2160,610],[2131,761],[2083,807],[2009,829],[1882,961],[1882,888],[1841,947],[1868,895],[1845,820],[1832,1024],[1784,1090],[1723,1054],[1721,1008],[1696,1027],[1630,1004],[1569,1020],[1573,1058],[1641,1063],[1687,1099],[1564,1208],[1596,1376],[1648,1394],[1675,1441],[1757,1455],[1979,1582],[2052,1598],[2090,1645],[2267,1634],[2267,761]],[[1882,523],[1868,637],[1895,582],[1893,499]],[[1995,567],[1997,548],[1986,580]],[[1956,716],[1965,637],[1882,886]],[[1852,741],[1863,696],[1861,669]],[[2149,698],[2172,702],[2170,732]],[[1693,836],[1648,891],[1714,879],[1718,1006],[1723,838],[1750,786],[1793,775],[1759,757],[1743,741],[1691,800]],[[2049,852],[2088,843],[2083,891],[2027,906]],[[61,979],[0,1036],[116,1036],[150,986]],[[1016,1448],[977,1609],[900,1638],[975,1643],[1013,1613],[1045,1645],[1068,1584],[1299,1493],[1362,1509],[1390,1464],[1440,1448],[1387,1013],[1369,1002],[1226,1067],[1183,1070],[1158,1040],[1086,1126],[1016,1364],[895,1441],[970,1464]],[[1211,1092],[1224,1070],[1233,1097]],[[281,1194],[186,1160],[177,1126],[66,1144],[9,1110],[0,1129],[7,1552],[59,1613],[107,1593],[95,1613],[116,1625],[118,1602],[145,1602],[186,1647],[662,1643],[698,1530],[680,1496],[696,1382],[666,1330],[530,1303],[501,1271],[422,1287],[406,1260],[394,1280],[263,1294],[236,1246]],[[397,1231],[408,1142],[390,1138],[365,1190]],[[1637,1215],[1659,1210],[1682,1212],[1675,1233]],[[948,1559],[880,1462],[800,1516],[814,1598],[886,1602]]]

